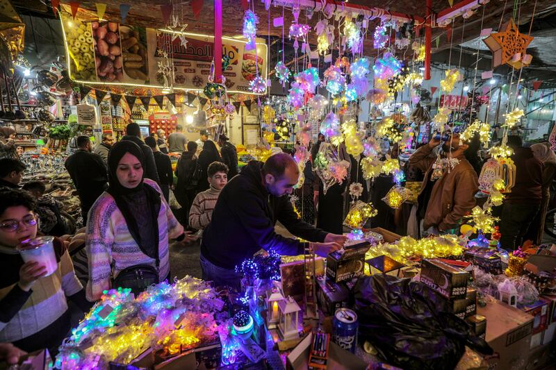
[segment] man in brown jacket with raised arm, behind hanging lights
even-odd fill
[[[465,158],[469,145],[457,133],[449,135],[442,146],[441,177],[432,176],[436,162],[432,149],[440,144],[434,135],[429,144],[421,146],[409,158],[411,166],[425,173],[418,196],[418,215],[423,220],[423,230],[434,235],[459,228],[463,217],[475,207],[475,193],[479,190],[477,173]]]

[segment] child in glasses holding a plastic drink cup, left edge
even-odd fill
[[[90,303],[65,244],[57,238],[35,239],[35,206],[24,190],[0,189],[0,342],[28,352],[48,348],[56,353],[70,331],[66,297],[83,311]],[[57,266],[49,251],[24,262],[20,251],[49,243]]]

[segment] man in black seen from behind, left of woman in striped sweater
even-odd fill
[[[108,187],[108,171],[100,155],[92,153],[92,143],[88,136],[77,137],[76,144],[79,149],[67,157],[65,169],[70,173],[79,195],[85,225],[92,204]]]

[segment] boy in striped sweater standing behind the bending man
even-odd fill
[[[195,196],[189,211],[189,226],[202,230],[211,222],[214,206],[220,191],[228,183],[228,166],[222,162],[212,162],[207,169],[210,187]]]

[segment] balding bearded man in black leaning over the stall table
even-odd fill
[[[240,276],[234,268],[260,249],[283,255],[300,255],[312,249],[322,257],[341,249],[345,236],[306,224],[293,212],[286,194],[293,192],[299,177],[293,158],[278,153],[264,164],[250,162],[231,179],[218,197],[211,224],[204,229],[201,244],[204,280],[238,289]],[[276,221],[309,243],[278,235]]]

